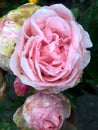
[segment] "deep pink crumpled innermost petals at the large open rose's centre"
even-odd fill
[[[63,57],[64,46],[55,42],[47,44],[41,49],[41,59],[48,64],[52,64],[53,61],[60,61]]]

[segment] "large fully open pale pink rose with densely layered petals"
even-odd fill
[[[68,8],[44,6],[25,21],[10,67],[24,84],[58,93],[79,82],[91,46],[88,33]]]

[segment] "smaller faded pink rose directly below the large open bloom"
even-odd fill
[[[64,119],[70,116],[69,100],[62,94],[39,91],[26,99],[23,116],[34,130],[60,130]]]

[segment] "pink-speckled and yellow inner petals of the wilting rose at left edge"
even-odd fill
[[[11,56],[19,29],[20,27],[7,17],[0,22],[0,54]]]

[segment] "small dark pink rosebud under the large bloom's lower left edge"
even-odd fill
[[[14,90],[17,96],[24,96],[30,88],[30,86],[23,84],[18,77],[15,79]]]

